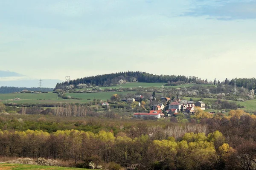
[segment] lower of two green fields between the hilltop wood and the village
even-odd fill
[[[110,99],[113,94],[126,95],[126,94],[135,94],[135,91],[122,91],[122,92],[98,92],[98,93],[67,93],[66,96],[71,96],[75,98],[80,98],[82,100],[87,99],[101,99],[107,100]]]

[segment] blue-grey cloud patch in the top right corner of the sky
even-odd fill
[[[208,1],[209,2],[209,1]],[[206,16],[217,20],[256,19],[256,1],[212,1],[200,0],[185,16]]]

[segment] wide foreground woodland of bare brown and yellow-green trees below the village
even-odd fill
[[[76,117],[84,113],[82,107],[76,115],[69,115],[74,108],[32,115],[14,110],[9,113],[15,114],[2,114],[0,156],[55,159],[83,168],[92,163],[103,168],[111,164],[114,170],[256,168],[254,114],[199,110],[189,117],[180,114],[171,119],[129,120],[110,112],[96,117],[87,111],[82,115],[85,117]]]

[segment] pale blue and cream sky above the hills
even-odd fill
[[[252,78],[255,30],[256,0],[0,0],[0,86],[119,71]]]

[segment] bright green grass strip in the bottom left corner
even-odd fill
[[[73,167],[52,167],[27,164],[0,164],[0,170],[89,170]]]

